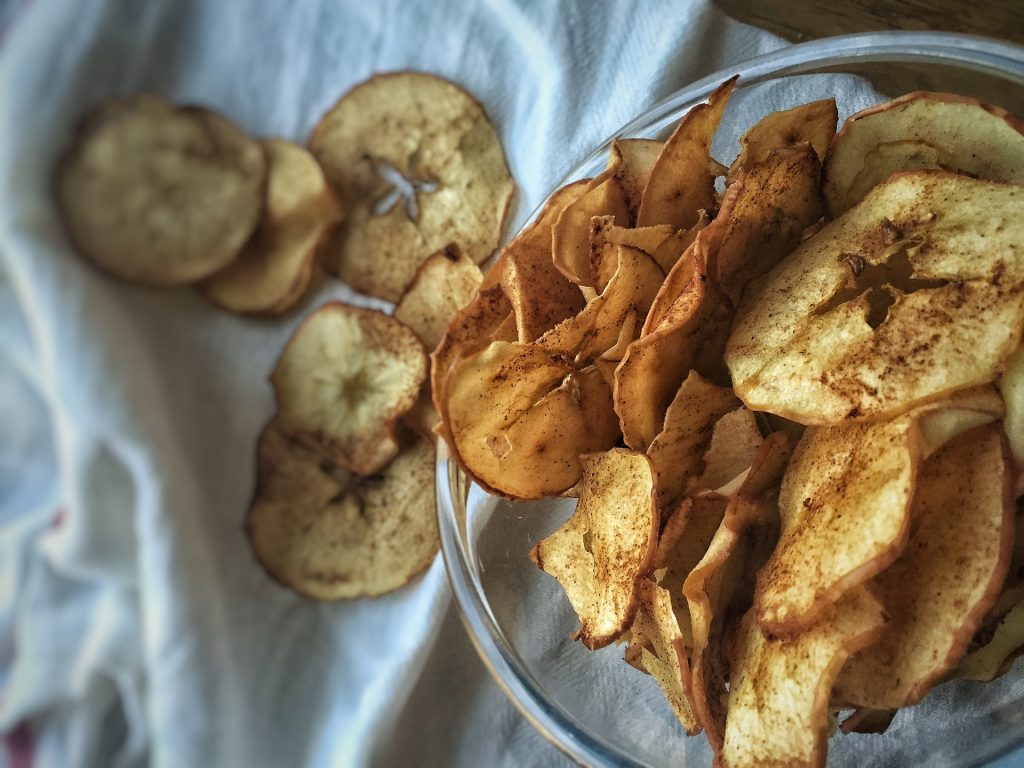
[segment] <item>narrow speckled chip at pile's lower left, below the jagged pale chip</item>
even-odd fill
[[[654,678],[686,733],[700,730],[690,694],[686,646],[667,589],[648,579],[639,583],[636,616],[630,630],[630,649],[637,664]],[[627,649],[627,657],[630,655]]]

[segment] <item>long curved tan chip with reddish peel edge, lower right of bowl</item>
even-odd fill
[[[916,703],[959,662],[1010,564],[1009,459],[999,426],[989,424],[922,465],[906,546],[872,582],[890,621],[847,663],[837,700],[874,710]]]

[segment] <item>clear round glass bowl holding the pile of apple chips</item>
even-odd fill
[[[1024,49],[931,33],[877,33],[796,45],[700,80],[614,136],[664,138],[726,78],[739,82],[713,154],[723,162],[764,114],[835,95],[840,121],[910,90],[952,91],[1024,114]],[[856,78],[863,78],[858,80]],[[869,85],[865,85],[865,81]],[[609,137],[609,141],[610,141]],[[608,143],[565,181],[594,176]],[[495,680],[553,744],[595,766],[706,766],[702,735],[687,738],[660,690],[623,662],[572,642],[578,621],[561,588],[527,558],[571,513],[572,502],[512,503],[489,497],[438,452],[441,551],[462,617]],[[829,742],[829,766],[983,765],[1024,745],[1024,665],[995,683],[951,682],[901,712],[882,735]],[[1024,751],[1006,765],[1024,763]]]

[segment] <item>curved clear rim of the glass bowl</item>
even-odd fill
[[[681,110],[705,100],[722,81],[732,75],[739,75],[740,86],[750,86],[783,76],[807,74],[820,68],[822,63],[841,67],[872,61],[948,63],[997,75],[1024,87],[1024,47],[1012,43],[958,33],[916,31],[870,32],[821,38],[755,56],[675,91],[609,135],[579,162],[555,188],[581,178],[585,169],[606,158],[611,140],[616,136],[635,134],[642,128],[650,128],[659,120],[678,115]],[[539,210],[535,210],[525,219],[523,226],[536,218]],[[642,765],[614,744],[589,733],[575,717],[550,700],[505,638],[479,581],[469,566],[470,554],[464,539],[465,525],[464,521],[460,522],[457,505],[454,503],[457,493],[465,498],[464,492],[468,488],[468,478],[451,461],[447,445],[439,440],[436,485],[441,554],[463,625],[487,672],[541,735],[574,762],[609,767]],[[998,760],[1019,749],[1021,743],[1024,743],[1024,738],[1021,742],[989,756],[986,762]]]

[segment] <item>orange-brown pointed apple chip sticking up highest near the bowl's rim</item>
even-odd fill
[[[717,207],[718,169],[711,158],[711,142],[735,84],[736,78],[727,80],[711,94],[708,103],[697,104],[679,121],[650,169],[637,210],[637,226],[671,224],[689,229],[700,211]]]

